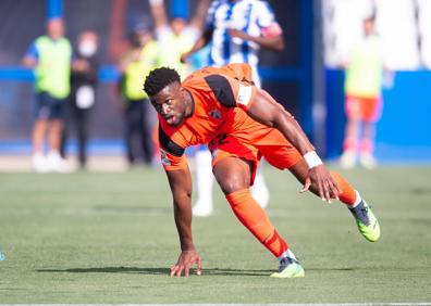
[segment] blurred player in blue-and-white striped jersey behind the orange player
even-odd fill
[[[204,33],[192,50],[182,55],[182,61],[187,62],[190,54],[208,44],[211,46],[209,65],[248,63],[253,68],[255,84],[261,87],[258,74],[259,49],[262,47],[281,52],[284,49],[284,39],[267,1],[214,0],[208,10]],[[198,196],[193,213],[195,216],[205,217],[213,212],[211,154],[208,150],[199,150],[195,161],[197,180],[201,188],[197,186]],[[269,191],[261,170],[258,170],[251,193],[262,207],[268,205]]]

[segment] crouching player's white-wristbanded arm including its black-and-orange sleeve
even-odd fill
[[[244,72],[248,71],[247,66],[243,65]],[[227,74],[211,74],[205,77],[205,81],[220,104],[227,109],[241,107],[255,120],[276,128],[299,151],[309,167],[303,192],[313,184],[322,200],[331,203],[331,195],[337,199],[340,189],[335,180],[295,118],[267,91],[241,78],[246,79],[245,76],[235,78]]]

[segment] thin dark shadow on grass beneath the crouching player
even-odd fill
[[[308,271],[352,271],[354,268],[310,268]],[[37,272],[65,272],[65,273],[143,273],[143,275],[169,275],[169,268],[138,268],[138,267],[100,267],[100,268],[74,268],[74,269],[38,269]],[[207,276],[249,276],[249,277],[267,277],[274,270],[246,270],[246,269],[204,269],[202,275]],[[196,269],[190,270],[190,275],[196,273]]]

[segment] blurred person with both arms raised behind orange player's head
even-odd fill
[[[174,16],[168,23],[163,0],[150,0],[149,3],[160,46],[160,64],[174,68],[182,78],[185,78],[193,69],[188,63],[181,62],[181,55],[189,51],[199,38],[209,1],[198,1],[196,13],[188,24],[182,16]]]

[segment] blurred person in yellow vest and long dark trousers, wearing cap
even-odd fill
[[[148,23],[138,24],[131,35],[131,49],[120,59],[122,72],[121,92],[124,99],[125,144],[131,166],[138,162],[151,165],[155,155],[152,130],[156,113],[150,107],[148,95],[143,90],[145,77],[159,65],[159,49]],[[136,145],[136,140],[139,145]],[[138,148],[140,146],[140,148]]]

